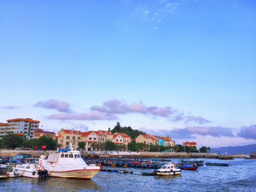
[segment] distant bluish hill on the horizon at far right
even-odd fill
[[[212,148],[211,151],[220,151],[220,154],[250,154],[252,151],[256,152],[256,144]]]

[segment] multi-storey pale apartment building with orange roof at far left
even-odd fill
[[[40,121],[31,118],[8,119],[7,123],[0,123],[0,138],[8,133],[20,134],[27,139],[33,138],[33,132],[38,129]]]

